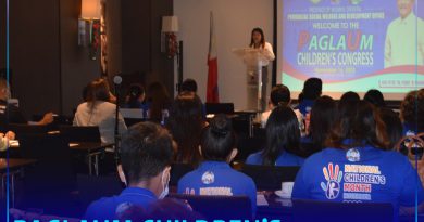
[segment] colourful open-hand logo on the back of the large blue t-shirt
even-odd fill
[[[325,192],[327,199],[335,199],[340,193],[340,181],[344,172],[339,170],[339,166],[335,165],[333,168],[333,162],[328,164],[328,169],[323,167],[324,178],[327,181],[321,182],[321,188]]]

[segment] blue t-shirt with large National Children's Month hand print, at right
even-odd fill
[[[329,201],[391,203],[414,206],[424,191],[416,171],[406,156],[373,146],[326,148],[309,157],[295,181],[291,197]]]

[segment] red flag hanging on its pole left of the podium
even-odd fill
[[[215,27],[213,25],[213,14],[210,18],[210,35],[209,35],[209,53],[208,53],[208,88],[207,103],[219,103],[217,93],[217,55],[216,55],[216,39]]]

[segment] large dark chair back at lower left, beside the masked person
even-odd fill
[[[25,170],[24,203],[27,207],[48,211],[71,205],[75,174],[67,140],[59,133],[23,134],[20,152],[23,158],[37,159],[34,167]]]

